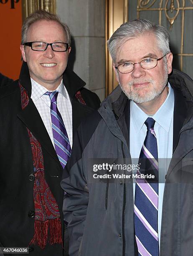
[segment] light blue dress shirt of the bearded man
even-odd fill
[[[159,191],[158,191],[158,239],[160,241],[163,192],[165,186],[165,174],[168,171],[173,154],[173,110],[174,92],[168,83],[168,96],[157,112],[150,116],[155,120],[154,131],[157,138]],[[149,116],[143,112],[135,102],[130,102],[130,154],[132,164],[138,164],[140,151],[145,140],[147,127],[144,124]],[[136,173],[134,171],[134,173]],[[135,198],[135,180],[133,183],[133,195]],[[160,244],[160,243],[159,243]]]

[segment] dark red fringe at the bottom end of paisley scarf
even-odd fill
[[[61,221],[59,218],[46,221],[35,220],[34,236],[29,244],[35,244],[38,245],[41,249],[44,249],[46,247],[47,240],[51,245],[55,243],[63,243],[61,234]]]

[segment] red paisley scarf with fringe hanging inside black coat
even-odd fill
[[[28,105],[28,92],[20,84],[21,108]],[[27,128],[33,154],[34,187],[33,199],[35,208],[34,236],[29,244],[36,244],[41,249],[47,241],[52,244],[62,244],[60,212],[55,198],[44,177],[43,154],[41,144]]]

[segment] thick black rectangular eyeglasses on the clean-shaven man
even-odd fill
[[[67,43],[60,43],[60,42],[56,42],[56,43],[45,43],[45,42],[27,42],[23,45],[26,46],[30,46],[31,49],[33,51],[46,51],[46,49],[48,48],[48,45],[51,46],[51,49],[53,51],[67,51],[67,49],[69,48],[69,44]]]

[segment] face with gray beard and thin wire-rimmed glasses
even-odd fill
[[[143,69],[138,62],[152,56],[159,59],[163,53],[157,47],[157,39],[152,33],[137,36],[124,42],[117,51],[117,66],[122,62],[137,63],[132,72],[121,74],[114,67],[117,81],[125,95],[136,103],[152,100],[164,102],[167,97],[168,74],[172,71],[172,54],[167,54],[167,63],[164,59],[157,61],[153,69]]]

